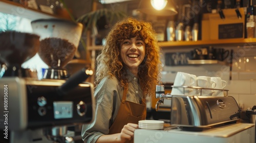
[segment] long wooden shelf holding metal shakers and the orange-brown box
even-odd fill
[[[177,47],[193,47],[193,46],[209,46],[209,45],[220,45],[220,46],[251,46],[256,44],[256,38],[236,38],[236,39],[222,39],[222,40],[200,40],[200,41],[166,41],[158,42],[162,48],[177,48]]]

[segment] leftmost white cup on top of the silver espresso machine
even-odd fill
[[[197,76],[178,72],[174,80],[174,86],[197,86]],[[196,94],[194,90],[192,88],[173,87],[171,94],[189,96]]]

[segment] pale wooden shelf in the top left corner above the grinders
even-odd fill
[[[21,4],[7,1],[7,0],[0,0],[0,12],[28,18],[30,20],[40,19],[40,18],[61,18],[67,19],[65,17],[49,14],[46,12],[42,12],[40,10],[26,8]]]

